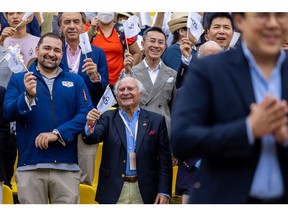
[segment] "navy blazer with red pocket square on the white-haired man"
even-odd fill
[[[83,139],[87,144],[104,142],[95,200],[104,204],[116,203],[124,184],[127,159],[125,125],[118,109],[102,114],[94,133]],[[136,139],[136,167],[144,203],[153,204],[158,193],[171,194],[169,145],[164,117],[141,109]]]

